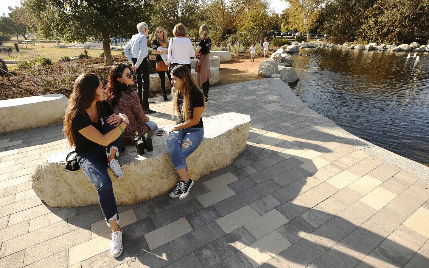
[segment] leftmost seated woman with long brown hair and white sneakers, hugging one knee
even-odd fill
[[[79,166],[97,188],[98,202],[107,225],[112,228],[110,253],[117,258],[123,250],[122,230],[107,168],[118,179],[124,176],[115,156],[122,150],[122,132],[128,118],[113,113],[112,106],[104,100],[100,77],[84,73],[75,81],[63,124],[69,145],[75,147]]]

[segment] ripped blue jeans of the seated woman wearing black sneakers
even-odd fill
[[[186,168],[186,158],[195,151],[204,137],[204,128],[182,128],[168,135],[167,147],[176,170]]]

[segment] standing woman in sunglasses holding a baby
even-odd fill
[[[154,49],[154,54],[156,55],[156,62],[166,62],[166,57],[168,54],[168,39],[163,27],[157,27],[155,31],[155,39],[152,42],[152,48]],[[165,91],[165,74],[167,73],[168,80],[171,83],[171,76],[168,71],[158,71],[158,75],[161,78],[161,89],[164,95],[164,101],[168,101],[167,93]]]

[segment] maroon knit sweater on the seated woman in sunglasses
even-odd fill
[[[151,128],[145,124],[149,121],[149,117],[142,111],[139,96],[136,93],[122,92],[118,103],[113,107],[115,114],[123,113],[128,117],[128,126],[124,131],[124,144],[134,144],[135,132],[139,132],[140,137],[148,132],[148,137],[151,136]]]

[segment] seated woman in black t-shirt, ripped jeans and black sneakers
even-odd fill
[[[173,84],[173,116],[177,115],[176,125],[169,131],[167,147],[179,182],[169,194],[170,197],[185,198],[193,185],[188,178],[186,158],[195,151],[204,137],[202,113],[205,110],[204,95],[194,82],[187,66],[178,65],[171,70]]]

